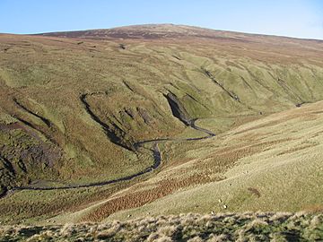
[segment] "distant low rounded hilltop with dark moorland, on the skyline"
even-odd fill
[[[40,33],[42,36],[52,36],[61,38],[81,38],[81,39],[231,39],[236,41],[248,41],[268,39],[289,39],[292,40],[310,40],[320,42],[317,39],[293,39],[288,37],[269,36],[261,34],[249,34],[234,31],[212,30],[188,25],[176,24],[144,24],[124,26],[112,29],[99,30],[77,30],[77,31],[59,31]]]

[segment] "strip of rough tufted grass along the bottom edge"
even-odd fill
[[[0,241],[321,241],[323,215],[181,214],[109,223],[5,226]]]

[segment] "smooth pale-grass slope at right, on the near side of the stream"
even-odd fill
[[[186,162],[170,163],[149,184],[167,190],[157,181],[176,176],[188,180],[195,173],[200,176],[198,182],[191,179],[191,186],[143,207],[112,214],[109,220],[126,219],[128,214],[140,217],[179,212],[321,211],[322,110],[320,101],[240,125],[214,140],[192,144],[185,155],[181,154]],[[209,178],[206,183],[204,176]],[[215,176],[219,179],[212,181]],[[145,188],[141,194],[151,194],[152,189]],[[133,198],[138,194],[134,192]],[[92,219],[103,219],[102,213],[107,213],[108,207],[109,202],[93,209]]]

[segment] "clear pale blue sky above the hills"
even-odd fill
[[[187,24],[323,39],[323,0],[0,0],[0,32]]]

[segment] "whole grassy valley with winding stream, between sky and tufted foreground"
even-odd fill
[[[321,212],[322,49],[171,24],[0,34],[0,220]]]

